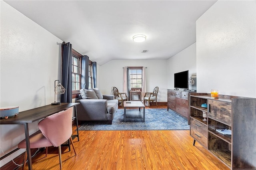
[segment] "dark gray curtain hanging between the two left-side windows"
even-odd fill
[[[82,73],[81,73],[81,89],[88,89],[89,84],[89,57],[87,55],[82,56]]]

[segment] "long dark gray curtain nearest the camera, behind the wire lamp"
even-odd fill
[[[62,85],[66,89],[61,103],[72,103],[72,44],[62,42]]]

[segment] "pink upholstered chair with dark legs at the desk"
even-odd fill
[[[29,136],[30,148],[43,148],[46,147],[46,156],[47,156],[47,147],[55,146],[59,148],[59,160],[60,160],[60,169],[62,169],[61,161],[61,144],[70,140],[74,152],[76,150],[72,140],[72,108],[66,109],[65,111],[60,111],[54,115],[48,116],[38,123],[39,131]],[[26,140],[22,140],[18,144],[18,148],[26,148]],[[27,159],[27,152],[25,152],[25,158],[23,163],[23,168],[25,167]]]

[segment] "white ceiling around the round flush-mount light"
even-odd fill
[[[102,65],[172,57],[196,42],[196,20],[217,0],[4,1]],[[136,34],[147,40],[133,42]]]

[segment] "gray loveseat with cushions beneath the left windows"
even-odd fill
[[[95,93],[94,93],[95,92]],[[81,89],[76,98],[78,121],[107,121],[112,124],[118,109],[118,100],[114,95],[102,95],[99,89]]]

